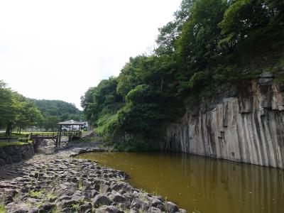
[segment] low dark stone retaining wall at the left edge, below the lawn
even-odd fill
[[[0,147],[0,166],[26,160],[31,158],[33,154],[32,143]]]

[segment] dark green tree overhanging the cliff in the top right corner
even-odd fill
[[[220,46],[234,48],[246,40],[283,38],[284,1],[282,0],[232,0],[219,23],[224,38]],[[263,40],[264,39],[264,40]]]

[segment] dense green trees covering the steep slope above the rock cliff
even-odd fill
[[[151,147],[185,105],[283,66],[282,0],[183,0],[159,31],[153,55],[130,58],[82,97],[87,119],[117,148]]]

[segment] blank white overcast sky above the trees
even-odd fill
[[[0,0],[0,80],[25,97],[80,108],[89,87],[153,49],[180,2]]]

